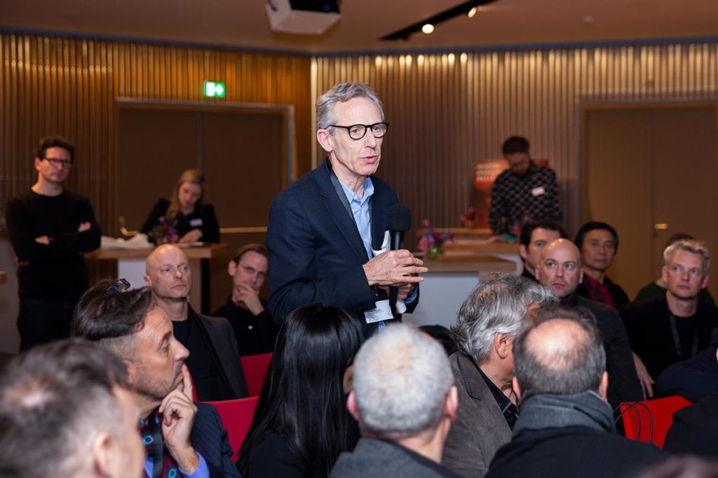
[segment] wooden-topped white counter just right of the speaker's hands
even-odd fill
[[[482,276],[493,272],[516,272],[516,262],[492,256],[444,255],[426,259],[429,272],[423,274],[419,305],[404,322],[414,325],[443,325],[456,322],[459,309]]]

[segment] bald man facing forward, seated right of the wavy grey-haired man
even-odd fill
[[[643,400],[628,335],[618,312],[576,293],[583,279],[579,248],[568,239],[555,239],[546,244],[536,265],[536,278],[541,285],[556,292],[561,305],[583,307],[595,317],[606,350],[606,369],[611,377],[608,383],[611,406]]]

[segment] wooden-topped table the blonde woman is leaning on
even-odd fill
[[[145,262],[154,249],[98,249],[85,254],[87,259],[117,261],[118,278],[127,279],[133,288],[144,287]],[[182,247],[190,259],[192,271],[192,289],[190,304],[200,312],[202,303],[202,259],[211,259],[227,253],[227,244],[207,244],[204,246]]]

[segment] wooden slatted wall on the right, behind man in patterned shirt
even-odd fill
[[[414,224],[460,226],[472,168],[525,135],[559,176],[564,218],[580,219],[582,104],[714,100],[718,44],[661,44],[443,54],[317,57],[320,95],[336,82],[368,82],[391,123],[379,175]],[[320,161],[322,151],[317,152]]]

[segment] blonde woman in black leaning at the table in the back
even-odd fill
[[[202,204],[205,176],[196,169],[182,172],[172,199],[160,199],[145,219],[140,232],[155,235],[156,242],[219,242],[220,225],[212,204]],[[158,239],[159,238],[159,239]]]

